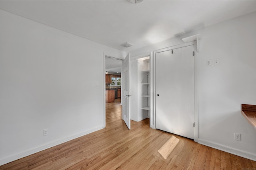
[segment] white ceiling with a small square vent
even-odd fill
[[[0,9],[128,52],[254,12],[256,1],[0,1]]]

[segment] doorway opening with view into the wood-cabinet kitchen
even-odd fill
[[[122,65],[122,59],[104,56],[104,127],[118,117],[122,119]]]

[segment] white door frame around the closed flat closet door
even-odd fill
[[[153,104],[153,106],[151,107],[152,111],[150,111],[150,127],[153,129],[156,129],[156,53],[160,53],[163,51],[168,51],[168,50],[173,50],[173,49],[178,49],[178,48],[182,48],[182,47],[187,47],[190,45],[194,45],[194,123],[195,123],[195,127],[194,127],[194,141],[197,142],[198,141],[198,99],[197,99],[197,72],[196,72],[196,54],[197,51],[195,49],[197,49],[196,46],[196,41],[192,41],[189,43],[183,43],[180,45],[175,45],[172,47],[167,47],[164,49],[159,49],[153,52],[153,56],[152,56],[152,60],[150,61],[150,66],[151,69],[150,72],[152,72],[153,74],[151,74],[152,76],[150,76],[150,81],[152,81],[153,87],[152,89],[150,88],[150,90],[152,90],[152,98],[150,99],[150,103]],[[150,82],[151,83],[151,82]]]

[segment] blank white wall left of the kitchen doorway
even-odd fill
[[[0,23],[0,165],[102,129],[103,53],[125,53],[3,10]]]

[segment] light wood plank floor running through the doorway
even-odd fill
[[[151,129],[149,119],[131,121],[131,130],[128,130],[122,121],[121,109],[120,100],[106,103],[105,129],[10,162],[0,166],[0,169],[256,169],[255,161],[200,145],[178,135],[174,136],[180,140],[179,143],[164,159],[158,149],[173,134]]]

